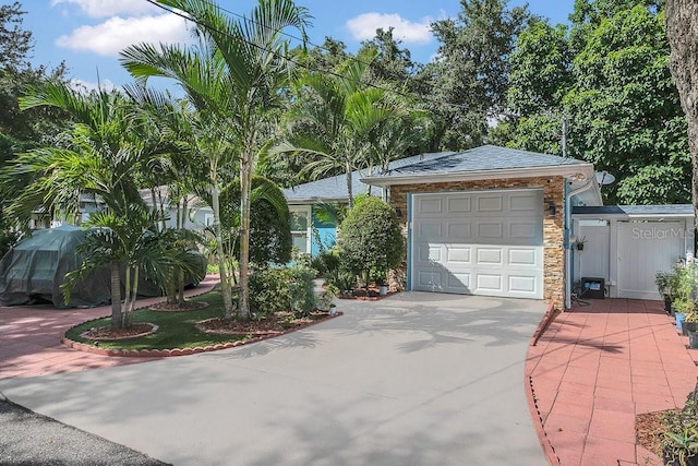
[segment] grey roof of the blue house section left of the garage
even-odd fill
[[[396,169],[405,167],[410,164],[416,164],[425,160],[432,160],[435,158],[447,157],[453,155],[453,152],[438,152],[433,154],[420,154],[412,157],[401,158],[394,160],[389,165],[389,169]],[[357,170],[351,174],[351,189],[353,194],[361,194],[366,192],[366,184],[361,182],[361,178],[369,175],[368,170]],[[381,188],[371,188],[371,192],[374,194],[381,194]],[[324,178],[317,181],[311,181],[308,183],[299,184],[291,189],[285,189],[284,195],[290,203],[299,203],[304,201],[345,201],[349,198],[347,191],[347,178],[345,175],[338,175],[336,177]]]

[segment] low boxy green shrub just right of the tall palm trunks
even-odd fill
[[[294,266],[253,267],[250,274],[250,307],[257,316],[279,311],[305,314],[315,308],[312,268]]]

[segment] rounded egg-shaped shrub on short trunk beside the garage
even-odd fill
[[[397,267],[402,261],[404,241],[393,208],[378,198],[362,200],[341,223],[339,248],[345,265],[362,273],[366,287],[372,270]]]

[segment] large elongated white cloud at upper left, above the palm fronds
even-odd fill
[[[189,41],[183,19],[173,14],[158,16],[110,17],[101,24],[81,26],[60,36],[56,45],[72,50],[87,50],[103,56],[117,56],[125,47],[140,43]]]

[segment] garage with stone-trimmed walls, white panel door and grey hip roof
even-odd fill
[[[363,178],[407,253],[390,289],[544,299],[564,309],[570,206],[601,205],[591,164],[484,145]]]

